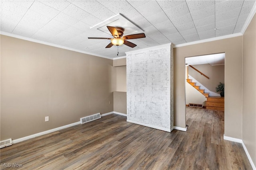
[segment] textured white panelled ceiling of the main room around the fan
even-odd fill
[[[1,0],[1,33],[44,41],[100,57],[166,43],[240,33],[255,0]],[[112,36],[90,29],[116,14],[138,25],[146,38],[105,49]],[[215,30],[216,28],[216,30]],[[124,33],[125,34],[125,33]]]

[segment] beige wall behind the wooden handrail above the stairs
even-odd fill
[[[211,66],[210,64],[198,64],[198,65],[192,65],[192,66],[197,70],[199,70],[200,72],[204,73],[206,76],[208,76],[209,79],[202,76],[199,72],[197,72],[190,66],[188,67],[188,74],[194,77],[203,86],[208,88],[208,90],[214,93],[220,93],[220,92],[216,92],[216,87],[219,84],[219,82],[224,83],[224,80],[225,80],[224,65]]]

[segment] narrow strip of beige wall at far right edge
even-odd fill
[[[242,139],[256,166],[256,15],[243,35]]]

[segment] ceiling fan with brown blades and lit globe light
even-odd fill
[[[111,27],[107,26],[110,33],[113,35],[114,38],[98,38],[98,37],[88,37],[88,39],[111,39],[111,43],[109,43],[105,48],[110,48],[113,45],[127,45],[129,47],[136,47],[137,45],[126,41],[126,39],[137,39],[137,38],[145,38],[146,35],[144,33],[139,34],[132,34],[132,35],[124,35],[124,28],[122,27]]]

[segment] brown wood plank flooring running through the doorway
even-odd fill
[[[186,107],[186,117],[187,132],[168,133],[108,115],[2,148],[0,169],[252,169],[242,145],[224,141],[223,111]]]

